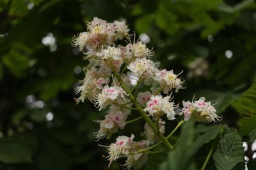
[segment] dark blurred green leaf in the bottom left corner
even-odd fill
[[[0,141],[0,160],[5,163],[32,162],[30,148],[22,143]]]

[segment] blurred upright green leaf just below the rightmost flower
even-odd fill
[[[186,170],[193,169],[193,139],[194,139],[193,122],[186,122],[182,128],[182,132],[177,146],[168,153],[166,161],[164,161],[160,168],[161,170]]]

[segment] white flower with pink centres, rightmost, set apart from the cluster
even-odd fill
[[[192,101],[192,103],[183,102],[183,104],[182,113],[184,113],[185,120],[189,120],[191,116],[198,122],[221,120],[221,117],[216,115],[216,109],[211,105],[211,102],[205,102],[205,97],[200,97],[198,101]]]

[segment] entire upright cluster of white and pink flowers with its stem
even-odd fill
[[[150,60],[153,50],[140,41],[131,42],[129,29],[124,21],[108,23],[99,18],[88,22],[88,31],[75,36],[72,45],[78,46],[89,61],[84,68],[85,77],[76,87],[79,96],[76,102],[90,100],[99,111],[106,111],[99,123],[99,130],[94,132],[95,141],[111,139],[111,136],[125,126],[138,120],[143,122],[144,131],[141,141],[131,137],[118,136],[115,143],[106,146],[109,166],[119,157],[125,157],[125,166],[138,168],[147,161],[150,150],[161,143],[170,149],[164,134],[165,124],[170,120],[194,118],[196,121],[216,122],[216,115],[211,102],[201,97],[198,101],[184,102],[182,110],[179,103],[174,103],[173,92],[184,89],[184,81],[173,70],[159,68],[159,63]],[[116,41],[126,39],[126,45]],[[134,119],[129,118],[133,115]],[[136,114],[141,117],[136,118]],[[127,120],[128,119],[128,120]],[[158,144],[156,144],[158,142]],[[154,145],[156,144],[156,145]]]

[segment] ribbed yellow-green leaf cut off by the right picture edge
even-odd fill
[[[238,113],[251,116],[256,113],[256,82],[232,106]]]

